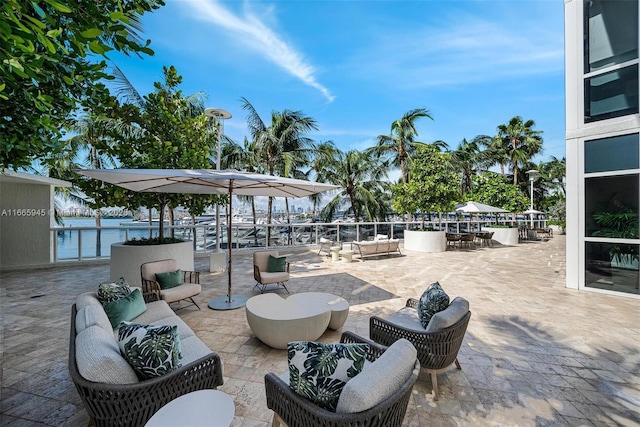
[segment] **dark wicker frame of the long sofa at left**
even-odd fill
[[[86,380],[76,363],[76,314],[71,309],[69,374],[97,427],[144,426],[158,410],[173,399],[197,390],[223,384],[222,362],[211,353],[161,377],[133,384],[106,384]]]

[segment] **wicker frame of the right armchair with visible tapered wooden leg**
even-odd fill
[[[407,300],[406,307],[416,309],[418,300],[410,298]],[[393,344],[400,338],[410,341],[418,350],[420,365],[431,375],[433,399],[438,400],[437,374],[446,371],[454,363],[458,369],[462,369],[458,362],[458,351],[462,346],[470,318],[471,312],[467,311],[452,326],[427,332],[419,321],[416,327],[411,327],[405,322],[403,325],[399,325],[390,321],[392,319],[373,316],[369,319],[369,336],[373,341],[386,346]]]

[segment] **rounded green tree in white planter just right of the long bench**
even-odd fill
[[[425,215],[430,219],[431,212],[450,212],[460,198],[451,155],[433,145],[420,147],[413,158],[411,180],[394,185],[392,191],[393,209],[398,213],[420,212],[424,229]]]

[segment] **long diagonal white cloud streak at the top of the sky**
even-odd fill
[[[243,44],[300,79],[304,84],[318,90],[329,102],[335,99],[329,89],[316,79],[316,70],[313,65],[269,28],[264,23],[264,19],[257,16],[248,4],[245,3],[242,16],[230,11],[217,0],[187,1],[181,4],[191,8],[195,12],[195,18],[228,30],[227,35],[237,37]]]

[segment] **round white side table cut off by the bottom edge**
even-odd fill
[[[198,390],[164,405],[145,427],[216,426],[228,427],[235,414],[233,399],[218,390]]]

